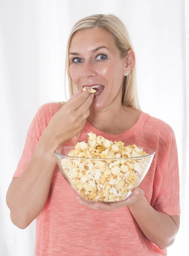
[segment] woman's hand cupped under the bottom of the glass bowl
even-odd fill
[[[113,203],[113,204],[111,204],[111,203],[103,204],[101,202],[95,202],[95,203],[86,202],[80,198],[77,198],[77,200],[78,200],[79,204],[83,204],[86,207],[89,207],[93,210],[112,211],[114,209],[118,209],[118,208],[121,208],[124,206],[131,206],[132,204],[136,203],[137,201],[141,200],[142,198],[144,198],[144,191],[139,188],[136,188],[133,191],[133,195],[123,202],[117,202],[117,203]]]

